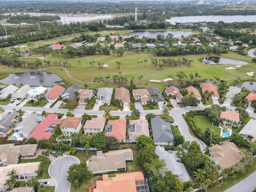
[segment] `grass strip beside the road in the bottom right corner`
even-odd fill
[[[256,170],[256,162],[254,161],[252,163],[252,167],[246,169],[246,172],[244,174],[240,173],[240,172],[236,172],[235,178],[227,178],[223,180],[223,184],[215,184],[214,186],[211,186],[210,188],[208,188],[208,192],[220,192],[220,191],[224,191],[230,187],[232,187],[233,185],[237,184],[238,182],[240,182],[241,180],[243,180],[244,178],[246,178],[247,176],[249,176],[250,174],[252,174],[254,171]],[[246,189],[246,186],[245,186]]]

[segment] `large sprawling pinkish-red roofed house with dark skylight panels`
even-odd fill
[[[33,132],[28,136],[29,138],[34,137],[36,140],[41,140],[45,137],[45,139],[49,140],[54,132],[54,127],[56,124],[61,124],[62,119],[58,119],[57,114],[49,114],[36,128]]]

